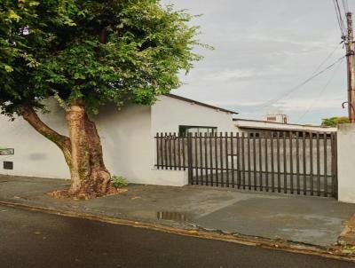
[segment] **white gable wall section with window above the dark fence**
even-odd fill
[[[176,132],[179,125],[217,127],[217,131],[235,131],[233,114],[193,104],[181,99],[160,96],[152,106],[152,131]]]

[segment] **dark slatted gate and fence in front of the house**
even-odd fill
[[[157,133],[156,167],[187,169],[191,185],[337,195],[336,133]]]

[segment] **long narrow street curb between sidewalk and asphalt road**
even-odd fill
[[[322,247],[316,247],[312,245],[296,243],[292,241],[272,240],[272,239],[265,239],[261,237],[248,236],[243,234],[208,232],[208,231],[204,231],[203,229],[188,230],[188,229],[182,229],[177,227],[170,227],[166,225],[157,225],[157,224],[127,220],[127,219],[119,219],[115,217],[100,216],[91,213],[74,212],[74,211],[61,210],[61,209],[48,209],[48,208],[30,206],[26,204],[9,202],[9,201],[0,201],[0,205],[17,208],[17,209],[38,211],[38,212],[43,212],[52,215],[59,215],[63,217],[83,218],[83,219],[94,220],[94,221],[99,221],[99,222],[113,224],[113,225],[126,225],[135,228],[149,229],[149,230],[154,230],[163,233],[172,233],[177,235],[184,235],[184,236],[209,239],[209,240],[222,240],[222,241],[233,242],[233,243],[246,245],[246,246],[278,249],[278,250],[284,250],[292,253],[300,253],[300,254],[306,254],[312,256],[323,256],[323,257],[337,259],[337,260],[346,260],[346,261],[355,262],[355,256],[347,256],[346,254],[337,252],[336,248],[322,248]]]

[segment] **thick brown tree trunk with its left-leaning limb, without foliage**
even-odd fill
[[[114,193],[111,176],[105,167],[99,132],[91,121],[81,101],[76,101],[66,111],[69,137],[52,130],[36,114],[33,108],[24,108],[23,118],[45,138],[49,138],[63,152],[71,174],[68,191],[53,195],[82,199]]]

